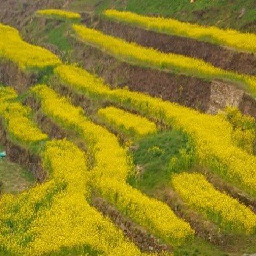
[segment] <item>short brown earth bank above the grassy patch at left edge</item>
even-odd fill
[[[28,149],[13,143],[7,135],[2,121],[0,120],[0,142],[6,146],[7,158],[10,161],[26,166],[38,182],[43,183],[46,179],[46,172],[42,168],[40,156],[32,154]]]

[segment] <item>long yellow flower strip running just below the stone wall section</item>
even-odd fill
[[[232,138],[233,127],[225,118],[126,89],[111,90],[101,79],[75,66],[59,66],[54,73],[75,91],[116,102],[182,129],[195,141],[200,164],[247,193],[256,195],[256,157],[236,146]]]

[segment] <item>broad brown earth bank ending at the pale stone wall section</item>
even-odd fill
[[[211,83],[196,77],[165,73],[132,66],[76,39],[72,40],[74,56],[86,70],[105,79],[111,87],[129,87],[132,91],[180,103],[206,111],[209,108]]]

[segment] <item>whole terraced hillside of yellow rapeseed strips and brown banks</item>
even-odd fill
[[[2,190],[0,255],[255,253],[255,34],[88,15],[34,13],[57,49],[0,24],[0,141],[37,180]]]

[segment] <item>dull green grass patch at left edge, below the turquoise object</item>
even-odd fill
[[[4,150],[5,148],[0,145],[0,151]],[[36,183],[33,174],[7,158],[0,158],[0,181],[3,183],[2,193],[11,194],[18,194]]]

